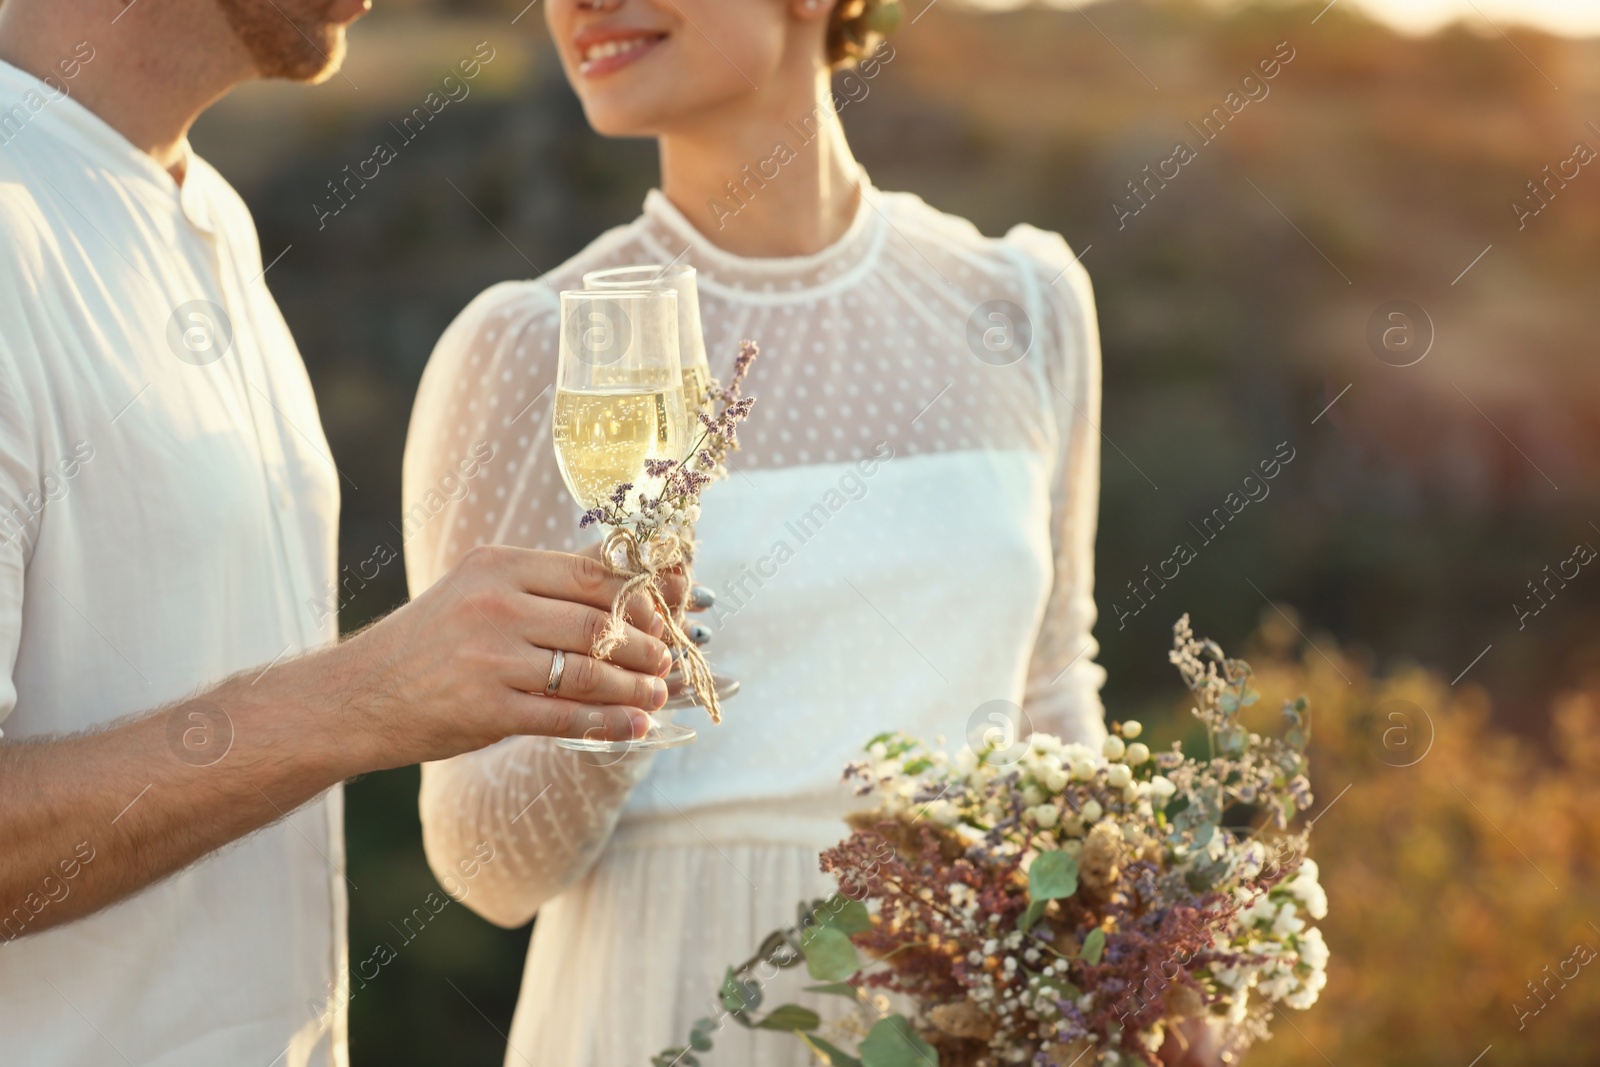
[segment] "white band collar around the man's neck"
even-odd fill
[[[0,114],[18,107],[27,114],[27,123],[16,133],[16,141],[26,144],[30,134],[54,138],[83,155],[94,168],[149,186],[152,192],[168,198],[197,229],[206,234],[216,230],[210,202],[203,195],[203,168],[197,166],[200,160],[189,147],[187,138],[181,146],[184,184],[179,186],[149,154],[77,102],[70,96],[72,83],[66,85],[69,94],[62,96],[59,86],[0,59]]]

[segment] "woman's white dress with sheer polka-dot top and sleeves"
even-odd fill
[[[514,737],[422,769],[427,854],[446,885],[498,923],[539,915],[509,1065],[646,1067],[715,1014],[723,969],[832,889],[818,851],[846,833],[840,771],[872,734],[954,749],[974,720],[992,726],[986,704],[1010,701],[1035,729],[1104,736],[1088,277],[1054,234],[987,238],[866,184],[850,230],[814,256],[723,253],[653,192],[557,270],[474,301],[411,419],[413,592],[477,544],[594,541],[550,450],[557,293],[643,262],[699,270],[714,374],[741,338],[762,346],[744,448],[704,498],[696,555],[718,597],[699,616],[707,653],[744,691],[720,726],[680,712],[696,744],[614,766]],[[485,841],[494,857],[464,880],[458,862],[470,869]],[[701,1062],[808,1057],[730,1025]]]

